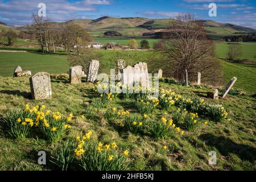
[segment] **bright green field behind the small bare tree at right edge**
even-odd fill
[[[247,59],[251,61],[256,61],[256,43],[251,42],[240,42],[242,53],[238,59]],[[216,55],[222,59],[226,58],[226,53],[228,52],[229,43],[217,43],[216,44]]]

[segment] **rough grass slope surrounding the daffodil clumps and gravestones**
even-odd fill
[[[228,110],[230,121],[222,123],[209,122],[209,126],[200,125],[193,133],[181,136],[175,134],[167,140],[154,140],[150,137],[139,137],[109,125],[105,119],[98,121],[82,120],[85,103],[95,95],[90,88],[92,84],[67,84],[67,80],[52,80],[53,99],[48,101],[30,100],[28,77],[0,77],[0,116],[6,110],[20,108],[25,103],[31,105],[45,104],[53,111],[75,115],[72,130],[68,137],[77,137],[82,132],[93,130],[93,137],[102,142],[115,141],[118,146],[130,150],[130,169],[136,170],[241,170],[255,169],[255,98],[249,96],[230,96],[229,99],[216,101]],[[195,92],[205,92],[208,89],[186,88],[181,85],[160,84],[161,88],[170,88],[184,96],[196,96]],[[212,102],[207,99],[207,102]],[[116,100],[112,106],[136,110],[133,101]],[[105,109],[99,112],[101,113]],[[161,117],[163,111],[155,110],[154,115]],[[168,114],[167,114],[168,115]],[[0,131],[2,130],[0,125]],[[168,146],[163,151],[163,145]],[[44,140],[14,140],[6,133],[0,132],[0,169],[1,170],[40,170],[45,168],[37,164],[38,151],[51,152],[55,145],[48,145]],[[217,152],[217,166],[208,164],[209,151]],[[47,163],[49,164],[49,163]]]

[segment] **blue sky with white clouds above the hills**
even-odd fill
[[[46,4],[46,15],[57,22],[101,16],[175,18],[179,13],[193,13],[197,19],[256,28],[255,0],[0,0],[0,22],[31,23],[39,3]],[[216,3],[217,17],[209,17],[209,3]]]

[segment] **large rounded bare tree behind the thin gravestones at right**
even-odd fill
[[[185,69],[190,80],[196,78],[197,72],[202,73],[205,81],[220,76],[216,73],[220,63],[214,59],[215,45],[207,38],[201,21],[191,14],[180,14],[170,22],[167,35],[166,46],[162,46],[162,63],[167,76],[183,81]]]

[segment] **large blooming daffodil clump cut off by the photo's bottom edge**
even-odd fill
[[[129,151],[121,152],[115,142],[95,143],[90,140],[92,131],[77,137],[75,155],[85,171],[123,171],[127,169]]]

